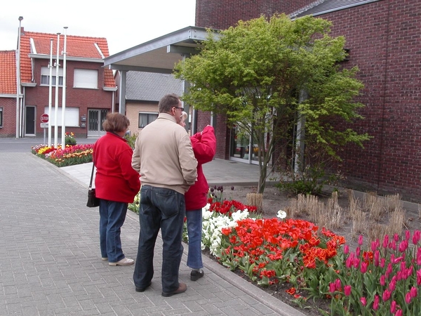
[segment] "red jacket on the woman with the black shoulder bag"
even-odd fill
[[[133,150],[120,136],[107,132],[93,145],[95,194],[100,199],[132,203],[140,190],[139,173],[131,166]]]

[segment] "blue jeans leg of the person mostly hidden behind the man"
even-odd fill
[[[186,211],[186,217],[187,235],[189,236],[187,266],[192,269],[203,268],[201,260],[202,210]]]

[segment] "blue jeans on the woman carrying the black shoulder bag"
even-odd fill
[[[100,248],[102,258],[117,262],[124,258],[121,226],[126,220],[127,203],[100,199]]]

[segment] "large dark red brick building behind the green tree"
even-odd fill
[[[349,49],[346,67],[357,65],[363,82],[352,128],[373,140],[350,145],[342,157],[347,181],[379,194],[421,195],[421,1],[417,0],[196,0],[196,26],[226,29],[261,14],[311,14],[333,22]],[[208,124],[206,114],[198,121]],[[202,126],[199,124],[199,129]],[[218,124],[218,157],[229,159],[229,131]],[[358,187],[358,186],[357,186]]]

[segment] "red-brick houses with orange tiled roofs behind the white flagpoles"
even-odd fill
[[[41,136],[41,114],[50,114],[49,123],[55,131],[55,104],[58,105],[58,138],[61,140],[63,84],[65,81],[65,124],[66,131],[76,138],[98,137],[102,121],[115,104],[116,84],[112,70],[102,67],[103,58],[109,55],[107,39],[76,37],[61,34],[20,32],[20,53],[1,51],[0,81],[0,137]],[[59,41],[59,49],[57,44]],[[51,43],[53,62],[50,68]],[[64,73],[64,45],[66,43],[66,72]],[[19,46],[18,46],[19,48]],[[20,55],[20,67],[16,55]],[[55,95],[55,76],[58,67],[58,94]],[[50,70],[52,72],[52,93],[50,98]],[[20,96],[17,101],[17,76],[20,78]],[[49,112],[49,104],[52,112]],[[18,115],[16,114],[18,110]],[[18,117],[18,118],[17,118]],[[18,120],[18,129],[16,122]],[[61,142],[59,142],[61,143]]]

